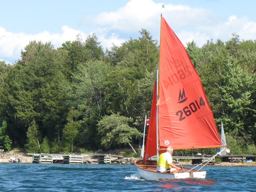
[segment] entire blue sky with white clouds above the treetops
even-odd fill
[[[164,5],[164,8],[162,8]],[[163,14],[180,41],[256,40],[256,0],[0,0],[0,61],[15,64],[30,41],[55,49],[93,32],[104,49],[140,37],[160,38]]]

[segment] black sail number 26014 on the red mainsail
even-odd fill
[[[198,103],[197,100],[195,102],[191,102],[188,106],[184,107],[182,110],[177,111],[176,115],[180,116],[180,121],[186,119],[186,116],[190,116],[192,113],[195,113],[198,111],[198,109],[201,108],[201,106],[204,106],[205,102],[202,97],[200,97],[200,101]]]

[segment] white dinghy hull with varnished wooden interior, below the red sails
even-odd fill
[[[180,173],[163,173],[157,172],[157,161],[147,160],[146,163],[143,160],[135,160],[134,164],[137,167],[137,171],[145,180],[157,180],[157,179],[186,179],[186,178],[202,178],[206,177],[205,171],[198,171],[196,169],[190,170],[189,168],[182,167],[183,171]],[[189,171],[190,170],[190,171]],[[189,171],[189,172],[188,172]]]

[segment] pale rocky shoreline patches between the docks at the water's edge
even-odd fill
[[[33,157],[27,155],[26,153],[21,152],[15,152],[15,151],[9,151],[7,153],[0,154],[0,163],[11,163],[10,157],[15,157],[17,159],[20,159],[20,163],[32,163]],[[134,164],[134,160],[137,158],[134,157],[124,157],[122,159],[118,158],[111,158],[111,162],[114,164]],[[83,158],[83,162],[85,164],[98,164],[98,158],[95,157],[95,155],[85,155]],[[183,166],[191,166],[192,162],[180,162]],[[207,165],[207,166],[256,166],[256,162],[239,162],[239,163],[229,163],[229,162],[221,162],[221,163],[215,163],[214,165]]]

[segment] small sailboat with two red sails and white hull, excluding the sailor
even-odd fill
[[[135,160],[145,180],[205,178],[207,172],[180,166],[179,173],[157,172],[159,154],[177,149],[222,147],[201,79],[185,47],[161,15],[160,62],[142,160]],[[217,154],[216,154],[217,155]],[[157,156],[157,160],[150,160]]]

